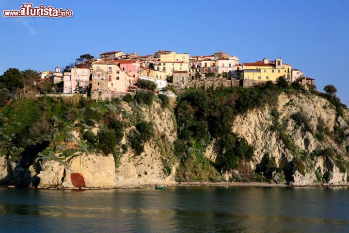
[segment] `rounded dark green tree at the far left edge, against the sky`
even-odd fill
[[[0,76],[0,88],[7,88],[10,91],[16,88],[23,88],[23,74],[17,68],[9,68]]]

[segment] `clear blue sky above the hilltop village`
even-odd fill
[[[319,90],[335,85],[349,103],[349,0],[34,0],[74,16],[3,17],[24,2],[31,1],[0,1],[0,74],[9,67],[53,70],[111,50],[222,50],[241,63],[279,55],[315,78]]]

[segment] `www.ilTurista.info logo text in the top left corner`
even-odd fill
[[[3,11],[5,17],[72,17],[73,11],[53,8],[52,6],[40,5],[32,7],[32,3],[24,3],[19,10]]]

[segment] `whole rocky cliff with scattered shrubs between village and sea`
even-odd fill
[[[224,104],[234,105],[234,95],[229,98]],[[225,161],[234,164],[232,169],[219,166],[222,164],[221,155],[227,154],[228,150],[222,138],[199,132],[200,127],[210,129],[209,123],[208,126],[190,126],[194,133],[186,135],[181,131],[186,126],[178,120],[182,113],[164,107],[157,98],[150,105],[119,101],[91,109],[103,116],[92,123],[90,119],[74,118],[65,128],[53,123],[60,130],[53,131],[48,144],[41,142],[44,150],[33,153],[33,156],[28,155],[27,147],[24,152],[20,150],[18,160],[12,157],[16,155],[13,150],[0,156],[0,184],[38,188],[113,188],[167,185],[184,179],[267,179],[292,185],[347,183],[349,112],[346,108],[339,110],[326,98],[311,92],[282,92],[273,104],[235,114],[227,125],[228,131],[230,127],[230,132],[235,133],[232,135],[238,136],[234,140],[243,139],[246,141],[243,143],[254,150],[252,157],[240,157],[237,162]],[[89,108],[85,107],[82,112],[86,114],[88,111]],[[194,106],[185,111],[188,116],[197,116],[200,110]],[[101,144],[102,137],[108,137],[108,134],[100,132],[114,127],[110,116],[112,120],[122,122],[123,128],[115,150],[103,153],[108,145]],[[154,132],[151,137],[142,136],[137,125],[142,121],[152,123]],[[181,135],[177,137],[178,122],[181,122],[178,126]],[[92,133],[92,138],[86,136],[87,131]],[[99,142],[91,143],[93,137],[99,138]],[[185,140],[183,137],[194,139]],[[178,142],[179,138],[183,143]],[[140,145],[143,148],[137,152]],[[248,149],[240,146],[238,150]],[[234,153],[238,152],[233,150],[232,156]]]

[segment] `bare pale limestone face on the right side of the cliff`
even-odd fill
[[[255,109],[247,114],[236,117],[232,130],[254,146],[254,159],[251,164],[254,169],[262,162],[264,154],[268,153],[276,159],[276,164],[282,168],[287,168],[294,185],[309,185],[317,182],[316,172],[321,177],[327,172],[329,174],[328,183],[342,184],[347,182],[348,170],[340,172],[334,163],[334,159],[348,161],[346,146],[348,146],[348,125],[342,117],[336,119],[336,111],[334,107],[325,99],[315,95],[301,94],[282,94],[276,106],[277,111],[281,114],[279,118],[280,124],[286,125],[286,135],[288,135],[297,151],[303,153],[314,153],[316,150],[332,148],[335,151],[335,158],[319,156],[314,161],[305,163],[304,173],[292,171],[292,161],[295,159],[294,151],[286,148],[285,144],[277,132],[270,130],[273,124],[270,114],[271,108]],[[309,124],[313,132],[317,131],[317,126],[322,124],[327,127],[328,135],[324,135],[321,142],[310,132],[304,130],[304,125],[295,122],[291,116],[301,112],[303,116],[309,119]],[[347,112],[345,112],[347,116]],[[333,129],[338,125],[347,135],[347,139],[343,144],[338,144],[333,140]],[[337,158],[336,158],[337,157]],[[285,174],[287,175],[287,174]]]

